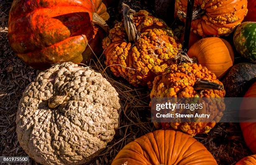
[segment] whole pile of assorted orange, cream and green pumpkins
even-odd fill
[[[123,17],[110,19],[111,29],[102,0],[14,0],[8,23],[10,46],[25,63],[45,70],[27,86],[19,102],[20,146],[44,165],[83,164],[100,155],[118,129],[120,108],[129,107],[121,106],[120,100],[127,105],[128,99],[119,99],[111,79],[84,66],[101,54],[105,65],[97,60],[102,68],[128,81],[135,91],[144,87],[150,92],[148,100],[256,97],[256,22],[250,16],[255,15],[255,2],[248,1],[247,5],[247,0],[196,0],[190,5],[192,28],[185,31],[176,21],[185,22],[187,0],[173,3],[176,20],[168,24],[171,28],[148,11],[135,11],[123,3]],[[127,1],[104,2],[109,9]],[[243,22],[245,17],[248,22]],[[182,50],[186,35],[189,49]],[[125,83],[122,80],[118,83]],[[134,136],[112,165],[216,165],[211,153],[193,138],[209,133],[223,116],[224,102],[208,106],[211,122],[154,123],[164,130]],[[255,123],[241,123],[254,154],[255,128]],[[255,164],[255,155],[237,165],[250,163]]]

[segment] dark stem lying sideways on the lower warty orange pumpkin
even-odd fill
[[[197,79],[194,85],[194,89],[195,90],[207,90],[207,89],[223,90],[224,86],[208,80]]]

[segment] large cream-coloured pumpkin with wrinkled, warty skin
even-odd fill
[[[20,146],[43,165],[90,161],[118,128],[118,93],[89,67],[52,66],[29,84],[18,106]]]

